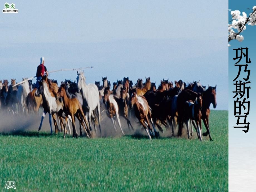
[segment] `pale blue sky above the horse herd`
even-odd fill
[[[50,71],[93,65],[85,70],[88,83],[150,76],[157,84],[217,84],[217,109],[228,109],[228,2],[13,3],[19,13],[0,17],[0,79],[34,76],[44,56]],[[76,72],[50,77],[75,80]]]

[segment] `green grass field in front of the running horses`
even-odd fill
[[[16,191],[228,191],[228,111],[212,110],[210,128],[213,142],[1,134],[0,189],[15,181]]]

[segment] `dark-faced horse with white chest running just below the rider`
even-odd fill
[[[55,114],[58,113],[58,115],[60,116],[63,115],[63,103],[61,103],[58,99],[56,99],[57,92],[58,92],[58,85],[56,83],[51,82],[51,80],[49,80],[46,76],[43,76],[41,82],[39,83],[39,87],[35,92],[35,95],[37,97],[39,95],[42,95],[42,99],[43,99],[43,114],[41,117],[41,122],[38,128],[38,131],[41,130],[43,119],[45,118],[45,115],[47,113],[49,114],[51,134],[53,133],[52,125],[51,125],[51,116],[53,117],[55,133],[59,131]],[[69,119],[71,120],[70,116],[69,116]],[[62,120],[61,120],[61,125],[63,125]]]

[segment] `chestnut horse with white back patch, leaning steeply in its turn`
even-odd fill
[[[153,121],[151,118],[151,111],[150,111],[150,108],[149,108],[146,98],[144,96],[138,96],[136,94],[136,90],[132,93],[132,96],[131,96],[131,109],[133,108],[133,106],[134,106],[135,116],[141,122],[142,126],[144,127],[145,131],[147,132],[149,139],[151,139],[150,135],[154,136],[154,134],[156,133],[156,129],[154,128]],[[152,134],[152,129],[151,129],[149,119],[153,126],[154,134]],[[149,133],[149,132],[151,132],[151,133]]]

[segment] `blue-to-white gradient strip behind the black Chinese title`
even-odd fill
[[[252,13],[253,6],[256,5],[256,1],[229,1],[229,9],[239,10],[242,14],[244,11],[247,13]],[[232,20],[232,16],[229,11],[228,21]],[[230,47],[228,48],[228,109],[229,109],[229,191],[255,191],[256,190],[256,168],[255,168],[255,159],[256,159],[256,26],[246,25],[246,30],[240,33],[244,36],[244,40],[239,42],[237,40],[230,41]],[[248,64],[248,69],[251,70],[249,81],[251,89],[249,89],[249,101],[250,101],[250,114],[247,117],[247,122],[250,122],[249,131],[244,133],[240,128],[233,128],[237,126],[237,118],[234,116],[234,100],[235,96],[235,85],[233,85],[233,79],[238,74],[239,67],[235,67],[234,64],[238,60],[233,60],[236,56],[236,51],[233,48],[248,47],[248,57],[251,59],[251,63]],[[238,64],[246,64],[246,60],[243,57]],[[242,80],[246,78],[247,73],[243,72],[244,67],[242,67],[240,77],[237,79]],[[243,81],[243,80],[242,80]],[[248,85],[247,85],[248,86]],[[243,113],[243,110],[242,110]],[[241,114],[243,115],[243,114]]]

